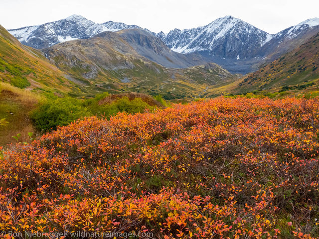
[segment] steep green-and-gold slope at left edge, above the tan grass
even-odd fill
[[[73,87],[40,52],[26,47],[0,26],[0,81],[19,88],[68,92]]]

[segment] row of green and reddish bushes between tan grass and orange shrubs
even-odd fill
[[[160,96],[159,100],[164,102]],[[60,98],[48,94],[44,101],[31,113],[35,127],[41,132],[65,126],[88,116],[104,116],[109,119],[119,112],[143,113],[163,105],[145,94],[126,93],[109,95],[104,93],[94,99]]]

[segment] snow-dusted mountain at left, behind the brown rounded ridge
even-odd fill
[[[64,41],[90,38],[103,31],[118,31],[131,28],[141,27],[114,21],[95,23],[83,16],[72,15],[58,21],[11,29],[8,32],[22,44],[39,49]]]

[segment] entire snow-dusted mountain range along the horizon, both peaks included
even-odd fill
[[[91,38],[104,31],[132,28],[142,29],[121,22],[95,23],[72,15],[54,22],[8,31],[25,45],[46,48],[64,41]],[[306,20],[277,34],[269,34],[233,16],[221,17],[192,29],[173,29],[168,33],[161,31],[155,34],[144,30],[156,35],[173,51],[198,53],[207,62],[217,63],[231,73],[245,74],[305,43],[319,31],[319,18]]]

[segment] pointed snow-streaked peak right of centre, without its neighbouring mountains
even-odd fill
[[[269,34],[232,16],[216,19],[208,25],[171,30],[158,36],[179,53],[210,51],[213,55],[231,58],[249,57]]]

